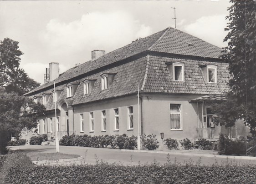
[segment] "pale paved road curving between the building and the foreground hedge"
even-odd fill
[[[53,153],[56,151],[55,146],[37,146],[37,145],[26,145],[15,147],[15,149],[26,149],[31,151],[38,151],[43,153]],[[60,153],[63,154],[78,154],[85,158],[85,162],[88,164],[95,164],[96,160],[107,161],[108,163],[122,163],[124,165],[137,165],[137,164],[150,164],[154,160],[157,163],[164,164],[167,163],[166,153],[145,153],[145,152],[130,152],[119,149],[104,149],[104,148],[87,148],[87,147],[73,147],[73,146],[60,146]],[[196,164],[200,159],[200,164],[226,164],[237,163],[237,164],[256,164],[256,160],[245,160],[245,159],[226,159],[218,157],[206,157],[198,156],[191,152],[191,155],[182,155],[179,152],[170,152],[170,161],[174,163],[184,164],[186,162]],[[174,154],[175,153],[175,154]],[[187,154],[190,152],[186,152]],[[209,154],[208,154],[209,155]]]

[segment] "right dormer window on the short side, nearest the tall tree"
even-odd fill
[[[217,65],[200,65],[208,83],[217,83]]]

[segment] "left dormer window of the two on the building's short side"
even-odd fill
[[[173,81],[184,81],[184,63],[170,62],[167,63],[167,67],[173,78]]]

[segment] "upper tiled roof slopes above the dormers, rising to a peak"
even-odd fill
[[[109,52],[97,60],[87,61],[81,65],[73,67],[60,75],[55,80],[55,82],[58,84],[62,81],[70,80],[79,75],[85,75],[87,72],[102,68],[120,60],[127,59],[146,50],[215,59],[218,58],[221,51],[220,48],[200,40],[199,38],[169,27],[146,38],[126,45],[120,49]],[[39,90],[43,90],[44,88],[50,87],[52,85],[53,81],[47,82],[30,91],[26,95]]]

